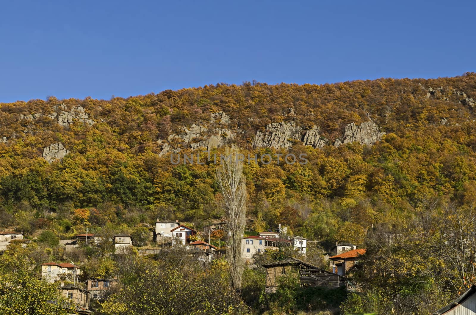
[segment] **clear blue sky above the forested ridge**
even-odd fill
[[[0,102],[476,71],[476,1],[2,1]]]

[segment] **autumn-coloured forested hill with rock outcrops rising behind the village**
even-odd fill
[[[256,230],[359,244],[372,225],[405,228],[425,200],[476,202],[475,100],[466,73],[0,103],[0,225],[69,237],[85,228],[73,211],[89,208],[92,230],[203,226],[221,215],[215,165],[169,155],[234,143],[309,161],[245,165]]]

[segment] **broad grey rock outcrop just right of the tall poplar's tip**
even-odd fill
[[[253,148],[291,148],[292,140],[302,141],[304,128],[296,126],[294,121],[271,123],[266,131],[257,131]]]

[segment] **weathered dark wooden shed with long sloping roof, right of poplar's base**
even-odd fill
[[[345,276],[333,274],[327,270],[308,264],[296,258],[289,258],[274,263],[263,265],[266,268],[266,292],[275,292],[278,287],[280,276],[296,273],[301,285],[327,286],[337,288],[347,286],[348,279]]]

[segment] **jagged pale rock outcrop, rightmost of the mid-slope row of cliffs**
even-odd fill
[[[382,139],[386,133],[380,131],[380,128],[373,121],[367,121],[357,126],[355,123],[347,124],[344,129],[344,137],[336,139],[334,146],[338,147],[341,144],[359,142],[360,144],[373,145]]]

